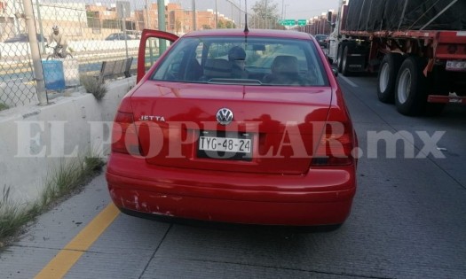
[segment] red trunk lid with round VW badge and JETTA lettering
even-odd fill
[[[131,106],[148,164],[304,174],[331,97],[330,87],[146,81],[131,96]],[[231,123],[220,124],[218,118],[230,112]]]

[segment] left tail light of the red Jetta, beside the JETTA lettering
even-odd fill
[[[112,151],[140,155],[138,132],[132,112],[128,111],[129,99],[124,98],[115,115],[112,128]]]

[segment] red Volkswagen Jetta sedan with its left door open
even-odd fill
[[[145,73],[146,40],[173,41]],[[145,30],[138,84],[122,98],[110,195],[143,217],[338,225],[356,190],[357,139],[311,35]]]

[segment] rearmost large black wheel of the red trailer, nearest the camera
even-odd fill
[[[423,58],[406,58],[397,76],[395,104],[397,110],[405,115],[419,115],[425,110],[427,79],[423,75],[426,61]]]

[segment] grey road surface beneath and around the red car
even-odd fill
[[[67,278],[465,278],[466,106],[409,118],[378,102],[375,80],[339,78],[362,151],[342,228],[187,226],[115,213],[89,248],[63,250],[109,203],[100,175],[0,254],[0,278],[33,277],[60,251],[81,255]],[[390,148],[375,144],[380,135],[406,141]]]

